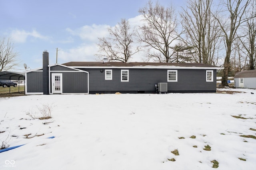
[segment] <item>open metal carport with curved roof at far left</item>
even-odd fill
[[[11,72],[11,71],[2,71],[0,72],[0,80],[25,80],[25,73],[22,72]],[[20,82],[18,84],[19,92],[20,92]],[[25,85],[24,85],[25,91]],[[9,88],[9,92],[11,92],[11,87]]]

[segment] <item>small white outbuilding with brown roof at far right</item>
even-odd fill
[[[237,72],[234,76],[234,87],[256,88],[256,70]]]

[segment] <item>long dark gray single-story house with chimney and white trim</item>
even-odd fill
[[[216,70],[201,63],[69,62],[26,72],[26,94],[216,92]]]

